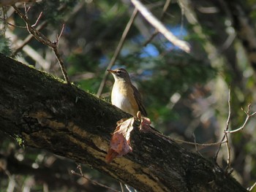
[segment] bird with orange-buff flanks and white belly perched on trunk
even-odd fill
[[[123,68],[108,69],[108,72],[113,74],[115,79],[111,92],[111,103],[132,116],[136,116],[140,111],[141,115],[146,117],[147,112],[143,106],[140,92],[132,85],[127,70]]]

